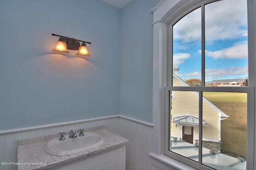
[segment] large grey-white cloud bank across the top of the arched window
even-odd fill
[[[174,25],[174,40],[201,41],[201,9],[190,12]],[[205,40],[236,39],[247,33],[246,0],[225,0],[205,6]]]

